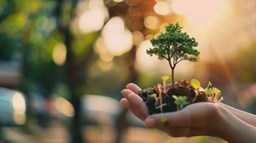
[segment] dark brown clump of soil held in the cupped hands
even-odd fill
[[[195,92],[195,88],[193,88],[191,83],[187,82],[186,80],[178,80],[174,83],[174,85],[172,85],[172,83],[166,84],[166,93],[163,92],[163,86],[161,86],[161,89],[162,104],[166,103],[166,105],[162,107],[163,113],[177,111],[177,104],[174,103],[174,98],[172,98],[172,95],[186,96],[188,103],[187,105],[196,102],[207,102],[208,99],[205,92]],[[157,97],[159,97],[158,86],[147,88],[139,92],[140,97],[144,102],[146,102],[146,105],[149,108],[149,114],[161,113],[161,109],[157,108],[158,105],[156,105],[155,98],[150,97],[152,94],[156,94]]]

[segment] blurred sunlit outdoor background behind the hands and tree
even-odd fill
[[[201,54],[175,79],[210,81],[256,114],[254,0],[1,0],[0,142],[223,142],[171,138],[119,105],[127,83],[171,76],[146,49],[177,22]]]

